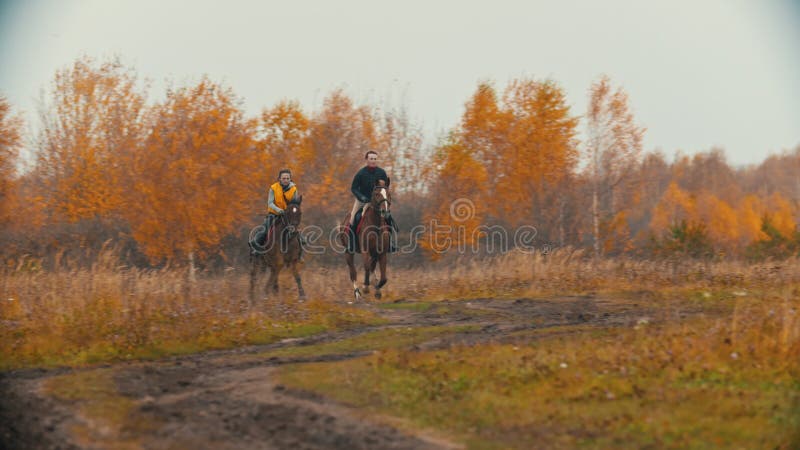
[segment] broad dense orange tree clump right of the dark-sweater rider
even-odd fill
[[[479,227],[487,222],[536,224],[540,232],[558,230],[555,238],[564,242],[567,203],[574,196],[559,188],[575,182],[576,125],[552,81],[514,80],[501,100],[490,83],[480,83],[458,127],[436,149],[431,185],[439,204],[429,221],[454,233],[465,230],[458,241],[466,244],[481,239]],[[468,216],[453,217],[456,201],[462,212],[469,202]]]

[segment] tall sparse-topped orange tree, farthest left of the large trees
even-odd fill
[[[145,96],[133,69],[84,57],[59,70],[40,110],[36,171],[51,221],[119,217],[123,160],[143,139]]]

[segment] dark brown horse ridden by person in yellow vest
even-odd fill
[[[300,244],[300,219],[303,215],[300,210],[300,203],[303,197],[292,199],[284,210],[284,213],[279,215],[272,226],[272,232],[266,230],[266,241],[264,243],[265,251],[261,254],[250,255],[250,299],[253,299],[256,286],[256,278],[259,274],[266,272],[269,267],[269,280],[265,287],[265,292],[269,292],[272,287],[272,292],[278,292],[278,275],[285,266],[291,269],[294,274],[294,280],[297,282],[297,292],[301,299],[305,298],[303,291],[303,283],[300,280],[300,271],[298,263],[300,262],[300,255],[302,254],[302,247]]]

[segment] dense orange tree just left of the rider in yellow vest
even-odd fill
[[[214,250],[262,195],[263,155],[229,88],[207,78],[172,89],[151,111],[132,162],[126,216],[152,260],[188,260]]]

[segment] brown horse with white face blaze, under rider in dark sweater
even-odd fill
[[[363,209],[361,224],[356,224],[356,251],[364,256],[364,291],[369,293],[369,277],[374,274],[375,266],[380,264],[381,278],[375,280],[375,298],[381,298],[381,288],[386,284],[386,261],[390,246],[390,225],[388,218],[391,216],[389,208],[392,205],[392,197],[389,189],[383,180],[378,180],[375,189],[372,190],[372,199]],[[346,247],[350,240],[350,233],[347,226],[350,215],[345,218],[340,230],[339,240]],[[362,298],[362,291],[356,283],[356,267],[354,253],[345,253],[347,267],[350,269],[350,281],[353,283],[353,295],[358,301]]]

